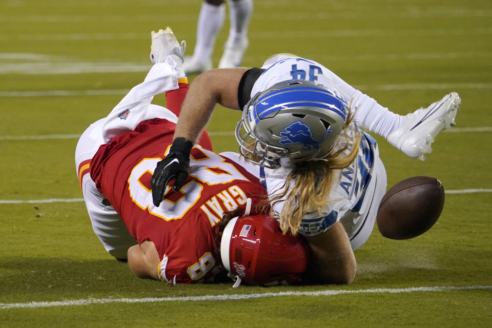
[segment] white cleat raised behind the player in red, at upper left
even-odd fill
[[[173,30],[168,26],[165,30],[159,30],[157,32],[152,31],[152,45],[150,51],[150,60],[153,64],[163,63],[168,56],[170,56],[174,63],[176,63],[176,71],[178,75],[185,76],[183,73],[183,54],[186,50],[186,41],[182,40],[181,44],[178,43]],[[179,74],[181,72],[182,74]],[[180,76],[178,76],[180,77]]]

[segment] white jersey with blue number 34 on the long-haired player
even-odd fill
[[[354,89],[316,61],[291,54],[279,54],[265,61],[262,68],[265,71],[253,85],[251,97],[281,81],[304,79],[331,89],[349,103],[352,100],[352,108],[377,105],[374,99]],[[288,162],[283,162],[279,169],[260,170],[269,195],[282,192],[285,177],[291,170],[292,167]],[[341,172],[330,192],[330,199],[333,201],[326,204],[321,214],[314,209],[306,214],[301,222],[299,233],[304,236],[314,236],[325,232],[336,221],[341,221],[351,239],[352,248],[356,249],[371,233],[377,207],[385,191],[386,173],[379,158],[376,140],[363,133],[357,159]],[[282,202],[276,203],[274,211],[280,213],[282,208]],[[362,228],[364,228],[365,239],[361,238],[363,240],[353,243],[352,241],[361,234]]]

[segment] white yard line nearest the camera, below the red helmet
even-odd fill
[[[225,294],[225,295],[204,295],[204,296],[185,296],[185,297],[145,297],[145,298],[88,298],[77,300],[63,300],[52,302],[27,302],[27,303],[0,303],[0,309],[19,309],[19,308],[50,308],[52,306],[73,306],[91,305],[108,303],[150,303],[150,302],[196,302],[196,301],[233,301],[244,299],[256,299],[265,297],[289,297],[289,296],[336,296],[346,294],[401,294],[416,292],[457,292],[457,291],[477,291],[492,290],[492,286],[462,286],[462,287],[410,287],[410,288],[380,288],[362,290],[325,290],[318,292],[278,292],[278,293],[256,293],[256,294]]]

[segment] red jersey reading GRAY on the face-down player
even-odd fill
[[[138,243],[154,242],[162,280],[208,281],[221,264],[215,233],[223,212],[244,209],[251,198],[255,214],[254,204],[267,192],[236,162],[198,146],[185,185],[178,192],[168,186],[155,207],[150,179],[172,144],[174,128],[165,119],[152,119],[112,138],[93,157],[91,177]]]

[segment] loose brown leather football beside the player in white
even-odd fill
[[[376,222],[390,239],[410,239],[429,230],[444,207],[444,187],[433,177],[415,176],[398,182],[384,194]]]

